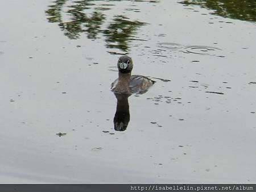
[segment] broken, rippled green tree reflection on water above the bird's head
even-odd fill
[[[81,34],[86,34],[88,39],[104,36],[107,48],[117,48],[127,53],[139,28],[146,23],[130,20],[123,15],[114,15],[113,18],[109,18],[106,11],[113,9],[114,2],[119,1],[122,0],[56,0],[46,10],[47,19],[50,23],[58,23],[69,39],[79,39]],[[157,3],[159,1],[135,0],[133,2]],[[138,12],[138,9],[134,10]]]

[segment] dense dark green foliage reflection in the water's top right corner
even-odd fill
[[[256,21],[255,0],[184,0],[184,5],[199,5],[226,18]]]

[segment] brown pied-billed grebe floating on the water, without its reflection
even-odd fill
[[[133,75],[133,60],[129,56],[121,56],[117,62],[118,78],[112,83],[111,90],[117,94],[143,94],[155,81],[145,76]]]

